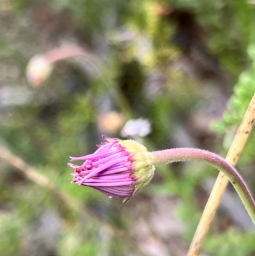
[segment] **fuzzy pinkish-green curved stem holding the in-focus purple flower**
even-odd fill
[[[219,171],[224,172],[228,179],[230,179],[230,182],[233,184],[235,190],[237,190],[240,199],[242,200],[247,212],[251,216],[252,222],[255,225],[255,201],[252,198],[251,192],[238,171],[231,166],[230,163],[221,158],[221,156],[203,149],[184,147],[154,151],[152,152],[152,158],[154,160],[154,165],[195,160],[198,162],[208,163],[217,168]]]

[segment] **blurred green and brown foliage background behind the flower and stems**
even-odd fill
[[[129,135],[151,150],[200,147],[225,156],[255,91],[254,15],[253,1],[243,0],[1,0],[1,146],[92,213],[1,161],[1,255],[186,255],[215,170],[158,168],[120,207],[72,186],[66,164],[92,153],[101,134]],[[59,61],[40,86],[27,82],[31,57],[69,44],[91,59]],[[138,123],[129,134],[126,121],[141,117],[151,132],[139,136]],[[254,143],[252,132],[237,165],[253,194]],[[203,255],[255,255],[252,227],[230,186]]]

